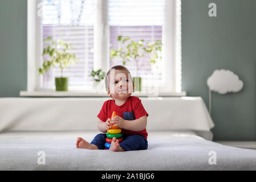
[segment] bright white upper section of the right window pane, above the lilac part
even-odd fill
[[[109,25],[152,26],[164,23],[165,0],[108,0]]]

